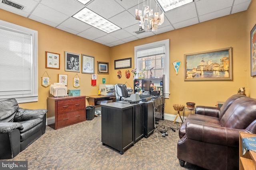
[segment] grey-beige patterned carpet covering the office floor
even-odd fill
[[[13,161],[28,161],[31,170],[204,170],[177,158],[179,123],[158,120],[156,129],[167,130],[162,137],[156,130],[120,154],[101,142],[101,117],[46,133],[20,152]],[[176,129],[176,132],[170,130]],[[143,142],[142,142],[143,141]]]

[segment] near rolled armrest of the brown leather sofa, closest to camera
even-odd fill
[[[228,147],[238,146],[240,131],[249,132],[246,129],[231,129],[200,123],[186,123],[186,137],[189,139]]]

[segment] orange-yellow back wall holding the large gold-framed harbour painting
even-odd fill
[[[250,88],[247,77],[250,73],[250,65],[246,59],[249,57],[246,48],[248,41],[246,16],[247,12],[240,12],[111,47],[112,61],[110,63],[114,63],[116,59],[128,57],[132,57],[134,61],[134,46],[170,39],[170,98],[166,99],[165,113],[176,114],[172,105],[186,104],[186,102],[215,106],[217,101],[225,101],[228,97],[236,94],[240,87],[246,87],[246,94],[249,95]],[[184,54],[226,47],[233,48],[233,80],[184,81]],[[132,68],[134,68],[133,61]],[[182,62],[178,75],[175,74],[172,67],[174,61]],[[122,73],[125,70],[122,69]],[[110,72],[116,73],[117,70],[112,67]],[[118,80],[116,75],[111,77],[111,83],[126,81],[133,86],[132,78],[126,79],[125,76],[122,76]]]

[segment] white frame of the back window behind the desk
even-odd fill
[[[148,43],[144,45],[139,45],[134,47],[134,67],[139,68],[137,52],[158,47],[160,45],[165,45],[165,58],[164,58],[164,74],[165,74],[165,84],[164,84],[164,98],[169,98],[169,80],[170,80],[170,52],[169,52],[169,39],[162,41],[156,41],[153,43]]]

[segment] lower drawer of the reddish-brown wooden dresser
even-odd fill
[[[84,109],[58,114],[58,127],[84,121]]]

